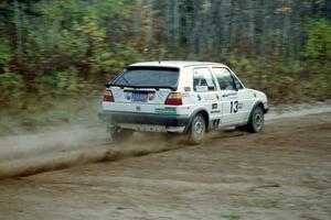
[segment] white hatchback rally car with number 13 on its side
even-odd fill
[[[255,133],[263,130],[269,110],[264,92],[245,88],[217,63],[137,63],[106,87],[99,118],[117,141],[134,131],[184,133],[193,144],[211,129]]]

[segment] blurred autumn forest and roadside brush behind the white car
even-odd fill
[[[224,63],[274,105],[325,100],[330,57],[331,0],[2,0],[0,135],[99,123],[104,84],[141,61]]]

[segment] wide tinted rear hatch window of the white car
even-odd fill
[[[171,67],[128,67],[113,86],[175,88],[179,69]]]

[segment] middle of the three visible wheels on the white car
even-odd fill
[[[191,123],[189,130],[189,143],[190,144],[201,144],[204,140],[205,134],[205,120],[202,114],[196,114]]]

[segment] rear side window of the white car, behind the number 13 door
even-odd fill
[[[193,69],[193,89],[194,91],[216,90],[215,81],[209,68],[203,67]]]

